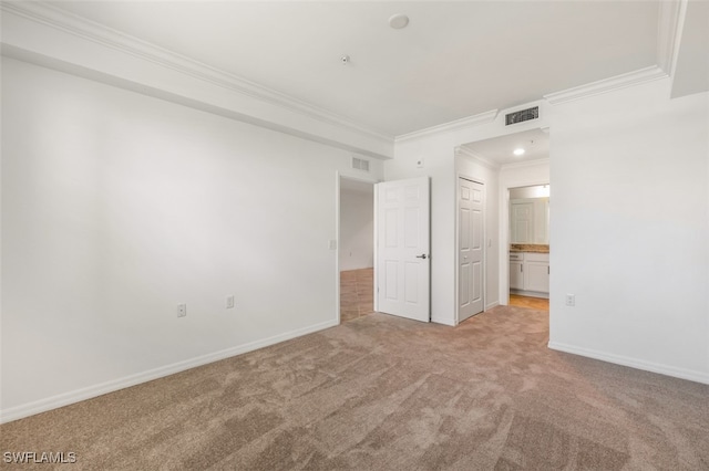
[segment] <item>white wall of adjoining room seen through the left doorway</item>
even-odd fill
[[[374,192],[340,192],[340,271],[374,266]]]

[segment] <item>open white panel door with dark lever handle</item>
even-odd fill
[[[377,311],[429,322],[429,178],[386,181],[377,195]]]

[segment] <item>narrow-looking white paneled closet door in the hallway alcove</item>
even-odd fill
[[[458,321],[483,311],[483,186],[458,179]]]

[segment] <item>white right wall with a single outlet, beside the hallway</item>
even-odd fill
[[[549,346],[709,383],[709,94],[668,97],[553,109]]]

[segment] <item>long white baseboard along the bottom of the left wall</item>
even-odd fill
[[[86,388],[76,389],[70,393],[64,393],[64,394],[52,396],[45,399],[40,399],[34,402],[11,407],[6,410],[0,410],[0,423],[6,423],[12,420],[22,419],[24,417],[33,416],[40,412],[45,412],[48,410],[56,409],[63,406],[69,406],[70,404],[75,404],[82,400],[94,398],[96,396],[114,393],[120,389],[140,385],[142,383],[152,381],[153,379],[158,379],[165,376],[174,375],[175,373],[181,373],[186,369],[195,368],[197,366],[203,366],[209,363],[218,362],[220,359],[240,355],[247,352],[253,352],[258,348],[264,348],[269,345],[278,344],[280,342],[289,341],[291,338],[300,337],[306,334],[311,334],[314,332],[333,327],[338,324],[339,323],[337,320],[322,322],[322,323],[310,325],[304,328],[298,328],[296,331],[278,334],[273,337],[263,338],[260,341],[250,342],[248,344],[239,345],[232,348],[226,348],[224,350],[215,352],[207,355],[202,355],[196,358],[174,363],[172,365],[162,366],[160,368],[150,369],[144,373],[138,373],[135,375],[102,383],[95,386],[89,386]]]

